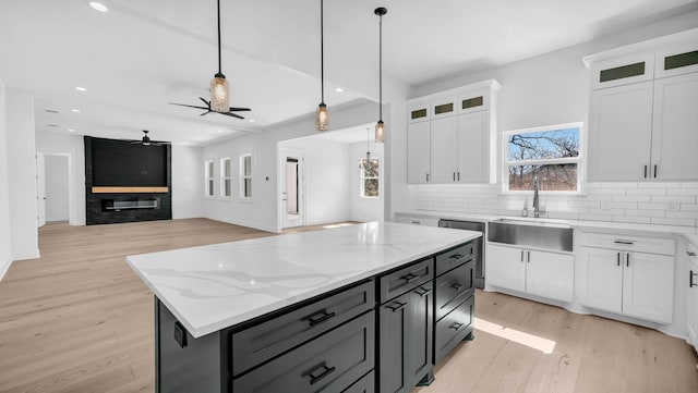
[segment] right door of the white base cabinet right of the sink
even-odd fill
[[[671,323],[674,309],[674,257],[624,254],[623,312]]]

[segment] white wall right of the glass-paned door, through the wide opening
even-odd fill
[[[303,151],[305,224],[349,220],[349,146],[310,137],[279,147]]]

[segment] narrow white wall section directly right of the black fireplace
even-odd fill
[[[202,150],[172,146],[172,219],[204,217]]]

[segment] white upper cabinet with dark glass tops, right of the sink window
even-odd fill
[[[672,42],[585,59],[591,62],[587,181],[698,180],[698,29]]]

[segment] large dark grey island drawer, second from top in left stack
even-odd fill
[[[374,311],[232,381],[236,393],[344,392],[373,369]]]

